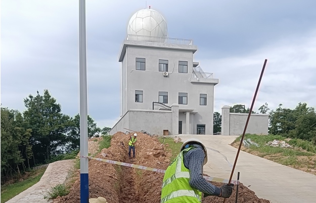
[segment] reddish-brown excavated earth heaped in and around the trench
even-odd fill
[[[96,158],[109,159],[137,165],[166,169],[172,156],[170,150],[163,148],[155,137],[138,133],[136,144],[136,158],[128,158],[129,136],[123,132],[113,135],[111,146],[103,149]],[[211,160],[209,160],[211,161]],[[89,160],[89,197],[105,197],[108,203],[125,202],[160,202],[163,173],[119,166],[97,160]],[[205,174],[204,174],[205,175]],[[223,183],[212,182],[216,186]],[[235,190],[225,202],[235,202]],[[258,198],[253,191],[240,184],[238,202],[268,203],[266,199]],[[80,180],[79,171],[76,172],[74,183],[68,195],[55,199],[55,203],[79,202]],[[203,203],[222,202],[223,198],[208,196]]]

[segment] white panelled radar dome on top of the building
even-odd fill
[[[130,18],[127,34],[166,38],[168,36],[167,23],[157,11],[142,9]]]

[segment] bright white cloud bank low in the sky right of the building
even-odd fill
[[[204,72],[219,79],[215,86],[214,111],[223,105],[251,101],[264,59],[267,65],[257,94],[254,110],[267,102],[270,109],[278,104],[294,108],[299,102],[316,106],[316,30],[299,38],[285,38],[238,57],[200,59]]]

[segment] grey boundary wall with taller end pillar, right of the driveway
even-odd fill
[[[230,113],[229,106],[222,107],[221,134],[223,136],[240,136],[243,134],[248,113]],[[251,114],[246,133],[268,134],[268,114]]]

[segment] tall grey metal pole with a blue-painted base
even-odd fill
[[[88,183],[88,110],[86,84],[85,0],[79,1],[79,72],[80,72],[80,203],[89,200]]]

